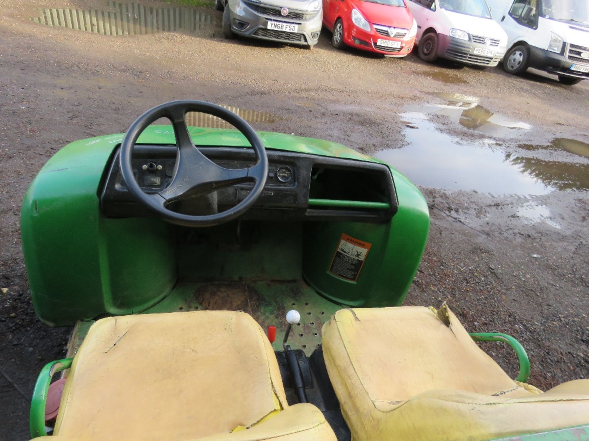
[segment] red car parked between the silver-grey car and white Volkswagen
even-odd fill
[[[401,58],[413,49],[417,23],[405,0],[323,0],[332,45]]]

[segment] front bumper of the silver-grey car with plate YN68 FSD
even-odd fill
[[[254,11],[253,8],[259,7],[258,5],[246,4],[241,0],[234,4],[235,6],[231,2],[229,5],[231,29],[238,35],[296,45],[317,44],[322,26],[321,10],[315,12],[292,11],[305,15],[304,19],[293,19]],[[270,9],[270,6],[267,9]],[[297,25],[298,29],[297,32],[274,31],[268,29],[269,21]]]

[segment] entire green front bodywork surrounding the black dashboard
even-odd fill
[[[189,130],[196,145],[249,146],[237,131]],[[381,162],[329,141],[259,135],[269,149]],[[224,238],[235,236],[234,223],[227,224],[225,228],[233,230],[225,232],[223,226],[206,229],[218,229],[218,239],[200,243],[181,235],[198,236],[203,229],[183,229],[156,218],[101,215],[97,192],[122,138],[101,136],[65,146],[25,195],[22,248],[35,311],[45,323],[65,326],[102,315],[143,312],[183,280],[301,279],[303,265],[307,282],[343,305],[402,302],[425,248],[429,213],[419,190],[395,169],[391,173],[399,209],[390,223],[305,222],[304,229],[300,223],[280,223],[264,227],[256,246],[226,246]],[[139,142],[171,144],[174,134],[170,126],[150,126]],[[356,285],[326,273],[342,233],[373,243]]]

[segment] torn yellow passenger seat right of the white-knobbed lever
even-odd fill
[[[322,341],[356,441],[486,440],[589,421],[589,380],[518,385],[450,310],[342,309]]]

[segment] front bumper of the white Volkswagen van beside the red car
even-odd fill
[[[475,54],[475,49],[490,49],[494,53],[492,55]],[[438,55],[464,64],[497,66],[506,50],[507,48],[501,46],[487,46],[472,41],[464,41],[449,35],[438,34]]]

